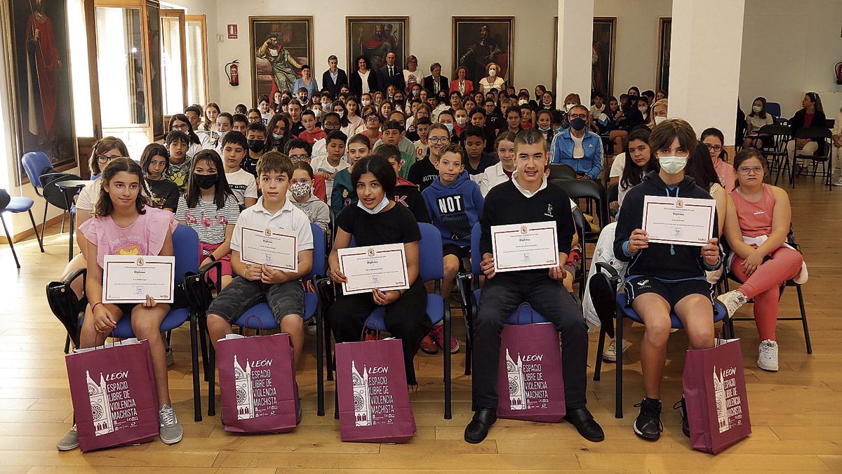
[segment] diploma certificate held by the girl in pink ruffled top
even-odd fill
[[[174,283],[174,256],[104,256],[103,303],[172,303]]]

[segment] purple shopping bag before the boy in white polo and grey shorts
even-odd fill
[[[296,371],[289,334],[216,343],[222,423],[234,433],[287,433],[298,425]]]

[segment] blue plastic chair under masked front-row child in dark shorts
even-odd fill
[[[622,279],[614,267],[605,262],[597,262],[597,271],[590,277],[588,291],[591,300],[594,302],[594,310],[600,316],[600,339],[596,347],[596,364],[594,368],[594,380],[600,380],[602,370],[602,350],[605,347],[605,335],[615,337],[616,341],[623,339],[623,318],[629,318],[637,323],[643,324],[640,315],[628,305],[628,298],[625,293],[617,293]],[[675,313],[669,315],[673,329],[684,329],[684,325]],[[725,320],[723,331],[728,334],[727,311],[716,299],[713,300],[713,322]],[[623,352],[616,351],[616,389],[614,399],[616,403],[615,414],[617,418],[623,417]]]

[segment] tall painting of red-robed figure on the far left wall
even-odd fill
[[[14,173],[21,159],[44,152],[56,170],[76,166],[67,3],[8,0],[3,11],[8,97],[13,121]]]

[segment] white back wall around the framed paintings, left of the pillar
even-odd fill
[[[552,25],[557,13],[556,0],[535,0],[513,5],[500,0],[483,2],[452,2],[425,0],[424,2],[378,2],[310,0],[308,2],[248,3],[219,0],[216,2],[216,28],[209,25],[211,35],[224,35],[218,43],[219,62],[210,67],[211,82],[219,84],[218,97],[223,109],[233,109],[242,102],[250,104],[251,72],[248,45],[248,17],[258,15],[312,15],[313,76],[321,81],[328,67],[328,56],[339,58],[339,67],[346,67],[346,16],[408,16],[409,52],[418,57],[418,69],[429,71],[429,64],[440,62],[441,73],[451,77],[451,16],[511,16],[514,15],[514,85],[530,90],[537,83],[552,82]],[[239,38],[228,40],[226,24],[239,27]],[[211,40],[211,43],[213,40]],[[231,87],[222,65],[233,59],[240,61],[240,85]],[[320,84],[321,85],[321,84]]]

